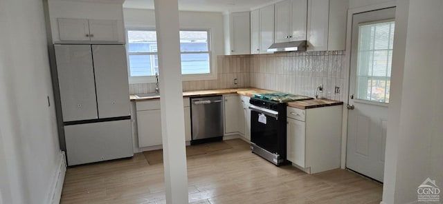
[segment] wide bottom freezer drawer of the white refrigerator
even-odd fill
[[[68,165],[133,156],[131,120],[64,126]]]

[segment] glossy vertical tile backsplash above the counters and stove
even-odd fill
[[[255,87],[343,101],[345,51],[217,56],[216,80],[183,81],[183,91]],[[234,84],[237,79],[237,85]],[[340,93],[335,93],[335,87]],[[130,84],[131,94],[154,92],[155,83]]]

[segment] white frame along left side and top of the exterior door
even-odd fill
[[[342,169],[346,167],[346,148],[347,148],[347,104],[349,103],[349,79],[350,79],[350,62],[351,62],[351,37],[352,37],[352,16],[361,12],[368,12],[371,10],[379,10],[383,8],[390,8],[396,6],[395,1],[387,1],[384,3],[377,3],[371,6],[363,6],[359,8],[352,8],[347,10],[347,27],[346,27],[346,50],[345,50],[345,86],[343,89],[343,121],[341,128],[341,165]],[[388,122],[389,123],[389,122]]]

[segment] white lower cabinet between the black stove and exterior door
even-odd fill
[[[309,174],[339,168],[342,108],[288,107],[287,160]]]

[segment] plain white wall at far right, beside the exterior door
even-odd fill
[[[401,107],[390,114],[399,128],[388,132],[394,139],[386,144],[398,145],[397,171],[386,172],[396,178],[394,194],[383,194],[386,203],[416,203],[417,187],[428,177],[443,186],[443,1],[409,1],[402,8],[408,18],[396,21],[406,21],[408,28],[401,100],[390,104]]]

